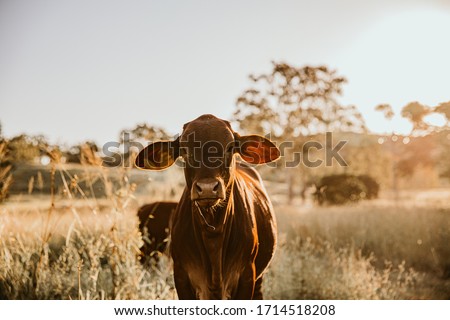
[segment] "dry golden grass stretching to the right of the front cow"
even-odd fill
[[[278,207],[267,294],[285,299],[449,299],[450,209]],[[267,283],[266,283],[267,284]]]

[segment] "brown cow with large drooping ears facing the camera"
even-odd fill
[[[241,136],[213,115],[200,116],[176,140],[155,142],[138,154],[136,166],[148,170],[184,160],[186,187],[170,230],[180,299],[262,299],[276,222],[261,177],[247,163],[279,156],[268,139]]]

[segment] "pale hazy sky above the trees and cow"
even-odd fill
[[[148,122],[180,131],[203,113],[230,118],[250,73],[271,60],[326,64],[373,108],[450,100],[450,0],[0,0],[4,135],[116,140]]]

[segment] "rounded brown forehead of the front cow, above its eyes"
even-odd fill
[[[180,141],[190,142],[194,138],[201,143],[208,141],[229,143],[234,140],[234,135],[228,121],[213,115],[203,115],[184,125]]]

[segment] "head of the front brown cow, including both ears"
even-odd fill
[[[251,164],[271,162],[280,156],[270,140],[258,135],[241,136],[228,121],[203,115],[186,123],[176,140],[159,141],[144,148],[136,158],[136,166],[162,170],[182,157],[191,200],[206,208],[226,199],[236,153]]]

